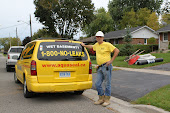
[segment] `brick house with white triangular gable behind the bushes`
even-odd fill
[[[148,26],[138,26],[129,29],[132,36],[132,44],[147,45],[147,40],[154,37],[158,44],[158,34]],[[112,44],[123,44],[123,38],[127,34],[127,29],[112,31],[105,34],[105,40]]]

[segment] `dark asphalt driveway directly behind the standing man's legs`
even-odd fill
[[[93,74],[93,89],[96,76],[97,74]],[[170,84],[170,76],[167,75],[117,70],[112,71],[111,95],[125,101],[133,101],[167,84]]]

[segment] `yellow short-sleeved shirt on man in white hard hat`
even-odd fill
[[[98,42],[93,45],[93,50],[96,51],[97,64],[101,65],[111,60],[111,52],[114,51],[116,47],[109,42],[103,42],[99,44]]]

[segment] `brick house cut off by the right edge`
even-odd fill
[[[159,49],[167,50],[170,41],[170,24],[157,30],[159,33]]]

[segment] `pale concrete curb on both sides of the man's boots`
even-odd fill
[[[96,101],[98,99],[97,91],[93,89],[86,90],[83,95],[92,101]],[[170,113],[152,105],[133,105],[112,96],[110,99],[110,105],[106,108],[114,111],[115,113]]]

